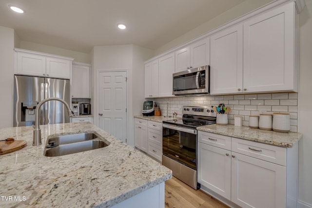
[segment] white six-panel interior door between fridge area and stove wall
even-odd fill
[[[105,132],[126,142],[127,72],[100,72],[98,124]]]

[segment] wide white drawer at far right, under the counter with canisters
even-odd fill
[[[232,137],[232,151],[286,166],[286,148]]]

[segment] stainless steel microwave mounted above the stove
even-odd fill
[[[210,66],[173,74],[173,95],[209,94]]]

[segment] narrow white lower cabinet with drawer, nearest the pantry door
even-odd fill
[[[147,152],[147,120],[135,118],[135,147]]]

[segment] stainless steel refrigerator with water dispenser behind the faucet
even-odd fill
[[[35,124],[37,104],[48,97],[58,97],[70,105],[69,79],[14,76],[14,127]],[[69,123],[70,118],[59,101],[48,101],[40,108],[40,125]]]

